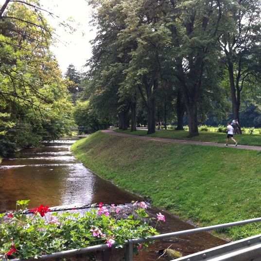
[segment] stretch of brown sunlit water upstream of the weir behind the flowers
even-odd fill
[[[40,204],[128,203],[138,197],[122,191],[90,172],[70,152],[75,140],[27,148],[0,165],[0,212],[16,208],[16,201],[30,199]],[[50,146],[53,145],[53,146]]]

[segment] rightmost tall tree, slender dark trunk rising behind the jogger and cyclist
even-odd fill
[[[261,1],[239,0],[226,5],[226,27],[230,30],[220,37],[225,54],[224,63],[229,74],[233,118],[240,119],[241,93],[252,76],[261,72]]]

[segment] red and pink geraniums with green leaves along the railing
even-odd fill
[[[50,212],[51,209],[43,205],[26,211],[28,202],[17,201],[17,207],[21,209],[8,215],[0,214],[2,259],[39,258],[98,244],[124,248],[127,239],[157,234],[156,229],[149,225],[151,219],[146,213],[147,205],[144,202],[134,202],[127,209],[100,203],[83,214],[76,210]],[[160,213],[157,219],[165,221]],[[135,246],[137,252],[140,247]]]

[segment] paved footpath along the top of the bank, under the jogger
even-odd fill
[[[109,135],[121,136],[121,137],[131,137],[131,138],[136,138],[136,139],[156,140],[156,141],[168,142],[168,143],[182,143],[182,144],[216,146],[216,147],[224,147],[225,148],[225,143],[185,140],[185,139],[155,138],[155,137],[148,137],[148,136],[138,136],[138,135],[124,134],[124,133],[120,133],[120,132],[115,132],[113,130],[103,130],[102,132],[109,134]],[[233,144],[230,144],[230,145],[228,145],[228,148],[226,148],[226,149],[229,149],[229,148],[261,151],[261,146],[248,146],[248,145],[240,145],[240,144],[237,147]]]

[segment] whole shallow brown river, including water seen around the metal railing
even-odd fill
[[[0,164],[0,212],[16,209],[16,201],[30,199],[29,208],[40,204],[49,207],[61,205],[125,204],[143,200],[123,191],[112,183],[88,170],[70,152],[76,139],[46,143],[44,147],[26,148]],[[194,228],[159,209],[150,209],[152,215],[161,212],[166,223],[158,226],[160,233]],[[225,244],[224,240],[209,233],[197,233],[152,244],[148,251],[141,251],[135,261],[157,260],[162,249],[170,247],[184,255]],[[159,258],[169,261],[167,255]]]

